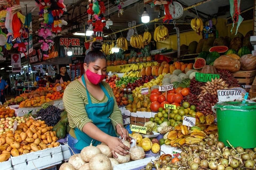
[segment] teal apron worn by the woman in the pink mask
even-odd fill
[[[86,88],[84,75],[82,75],[82,82]],[[85,106],[85,109],[89,119],[93,121],[93,124],[95,126],[97,126],[104,133],[116,137],[114,127],[112,125],[111,119],[109,118],[110,114],[113,112],[114,99],[113,97],[109,96],[108,92],[106,91],[102,83],[99,83],[99,85],[101,86],[101,89],[107,96],[108,101],[106,103],[91,103],[91,98],[86,88],[88,104]],[[92,140],[93,146],[97,146],[99,143],[101,143],[100,141],[96,141],[95,139],[89,137],[86,133],[82,132],[78,128],[75,128],[74,131],[75,136],[78,140],[78,142],[75,144],[75,148],[77,148],[78,150],[82,150],[84,147],[89,146]]]

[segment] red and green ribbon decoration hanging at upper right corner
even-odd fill
[[[232,30],[234,28],[235,23],[237,23],[237,30],[235,32],[235,35],[237,34],[238,27],[243,21],[243,17],[240,15],[240,1],[241,0],[229,0],[230,3],[230,15],[233,20],[233,27],[231,28],[230,32],[232,33]]]

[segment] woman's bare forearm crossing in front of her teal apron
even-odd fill
[[[106,143],[107,139],[111,137],[110,135],[101,131],[97,126],[95,126],[92,122],[88,122],[83,126],[83,132],[86,133],[89,137]]]

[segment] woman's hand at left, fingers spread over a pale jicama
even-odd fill
[[[110,150],[112,151],[112,154],[115,158],[117,158],[117,155],[115,154],[115,152],[117,152],[119,155],[123,155],[123,156],[125,156],[126,154],[129,154],[129,152],[127,152],[126,150],[129,150],[130,148],[125,146],[123,144],[123,142],[121,141],[121,139],[119,139],[117,137],[110,137],[108,139],[108,141],[105,143],[110,148]]]

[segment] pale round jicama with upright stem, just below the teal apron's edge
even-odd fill
[[[86,162],[90,162],[90,159],[97,154],[101,154],[101,150],[93,146],[92,143],[90,144],[90,146],[84,147],[81,151],[81,157]]]

